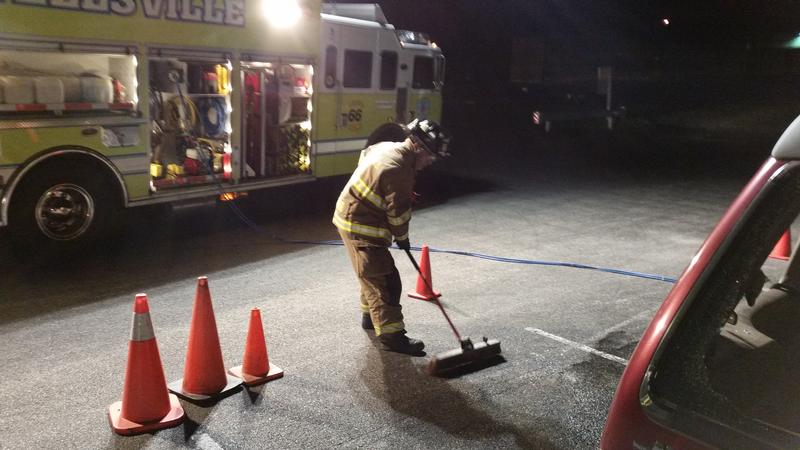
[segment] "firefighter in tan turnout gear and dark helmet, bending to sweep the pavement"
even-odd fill
[[[400,125],[402,127],[402,125]],[[410,248],[408,225],[418,170],[448,156],[449,135],[429,120],[414,120],[403,142],[379,142],[361,152],[358,167],[339,195],[338,228],[361,285],[361,326],[375,330],[384,349],[420,355],[425,344],[406,336],[400,274],[388,248]]]

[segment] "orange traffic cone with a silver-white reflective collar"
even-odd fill
[[[145,294],[137,294],[134,301],[122,401],[108,407],[108,419],[114,432],[122,435],[174,427],[184,419],[180,401],[167,392]]]

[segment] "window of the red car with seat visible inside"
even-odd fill
[[[686,426],[715,445],[747,436],[798,443],[784,430],[800,433],[800,258],[775,257],[788,249],[798,210],[800,165],[766,188],[731,234],[656,364],[652,398],[710,419]],[[714,433],[714,424],[728,431]]]

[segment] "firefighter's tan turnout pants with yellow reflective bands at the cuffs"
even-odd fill
[[[352,239],[339,231],[361,285],[361,312],[369,313],[375,334],[405,330],[400,273],[389,249]]]

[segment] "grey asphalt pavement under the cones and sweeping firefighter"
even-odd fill
[[[454,156],[423,174],[412,245],[433,252],[434,288],[462,334],[502,342],[505,362],[455,378],[427,357],[380,350],[359,326],[357,283],[334,240],[344,180],[227,206],[126,214],[112,242],[32,264],[0,237],[0,448],[596,448],[616,383],[678,277],[774,140],[621,126],[454,130]],[[775,136],[777,139],[777,136]],[[416,274],[395,251],[404,289]],[[417,255],[419,255],[417,253]],[[262,310],[282,379],[184,424],[112,433],[136,293],[147,293],[168,382],[183,376],[198,276],[208,276],[226,366]],[[457,346],[438,309],[406,298],[409,334]]]

